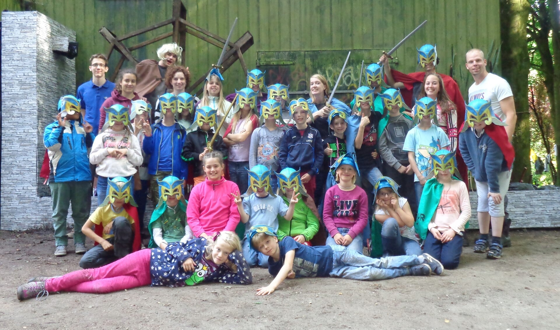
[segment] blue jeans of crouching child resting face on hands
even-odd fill
[[[420,244],[413,239],[400,235],[399,223],[395,218],[389,218],[381,227],[381,241],[383,255],[421,255]]]

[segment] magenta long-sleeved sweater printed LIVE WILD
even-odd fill
[[[356,186],[347,192],[340,190],[338,185],[330,187],[325,194],[323,221],[331,237],[338,233],[337,228],[349,228],[348,235],[354,239],[367,224],[365,190]]]

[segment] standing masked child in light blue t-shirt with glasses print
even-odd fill
[[[432,173],[430,155],[438,150],[447,150],[451,144],[443,129],[432,123],[432,119],[436,117],[436,105],[437,101],[430,97],[416,100],[414,121],[418,124],[408,131],[403,145],[403,150],[408,151],[408,161],[414,171],[414,190],[418,202],[422,197],[424,184]]]

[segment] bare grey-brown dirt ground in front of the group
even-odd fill
[[[514,246],[502,259],[487,260],[465,248],[459,268],[441,277],[304,278],[285,281],[270,296],[255,296],[272,278],[254,268],[249,286],[52,293],[42,302],[20,302],[18,285],[32,276],[77,270],[80,256],[71,251],[54,257],[48,231],[0,231],[0,328],[558,329],[559,240],[558,230],[515,231]]]

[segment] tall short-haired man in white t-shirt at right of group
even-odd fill
[[[486,59],[480,49],[473,48],[466,52],[465,66],[474,79],[473,85],[469,87],[469,103],[476,99],[490,101],[494,113],[507,124],[506,133],[511,142],[515,132],[517,114],[510,84],[504,78],[486,71]],[[506,208],[507,195],[503,202],[506,204]],[[502,245],[504,247],[511,246],[510,225],[511,219],[506,211],[502,227]]]

